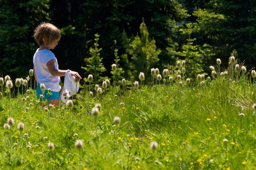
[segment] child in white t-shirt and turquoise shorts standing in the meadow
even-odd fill
[[[47,99],[48,104],[58,106],[60,100],[60,76],[65,76],[67,70],[58,69],[58,61],[50,49],[54,49],[58,44],[60,30],[52,24],[42,23],[34,31],[34,38],[40,45],[33,57],[33,72],[37,83],[36,97],[39,99],[40,95],[42,95],[40,84],[44,83],[46,86],[44,97]],[[70,71],[70,74],[81,79],[80,75],[75,71]],[[49,92],[50,95],[48,95]],[[40,105],[42,105],[42,99],[40,99]]]

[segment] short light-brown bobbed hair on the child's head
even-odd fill
[[[50,23],[43,22],[34,30],[34,38],[39,45],[48,45],[52,41],[60,40],[60,30]]]

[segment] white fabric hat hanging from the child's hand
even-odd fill
[[[66,104],[68,99],[75,95],[78,92],[79,89],[79,82],[75,82],[75,77],[72,76],[69,72],[70,70],[66,71],[65,78],[64,78],[64,85],[62,92],[60,94],[60,100],[62,103]]]

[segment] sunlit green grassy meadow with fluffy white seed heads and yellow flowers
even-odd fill
[[[90,84],[91,96],[87,83],[58,108],[38,105],[33,77],[18,104],[6,79],[0,169],[256,169],[256,73],[230,61],[207,78],[187,79],[184,62],[151,70],[154,83]]]

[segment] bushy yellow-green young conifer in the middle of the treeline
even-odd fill
[[[144,21],[140,24],[140,36],[136,36],[134,40],[130,40],[126,33],[122,34],[122,44],[127,53],[122,55],[126,68],[132,70],[128,73],[131,76],[138,76],[139,72],[148,74],[150,69],[159,61],[158,55],[160,49],[156,49],[156,41],[149,39],[149,33]]]

